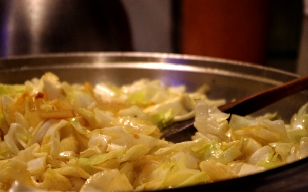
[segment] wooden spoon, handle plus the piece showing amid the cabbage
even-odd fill
[[[219,106],[218,109],[224,113],[246,116],[305,89],[308,89],[308,75],[224,104]],[[195,119],[188,119],[175,123],[166,129],[167,131],[161,136],[161,139],[164,138],[174,143],[191,140],[191,136],[197,132],[194,121]]]

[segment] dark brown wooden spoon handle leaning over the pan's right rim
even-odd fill
[[[234,102],[227,103],[220,106],[218,109],[224,113],[246,116],[305,89],[308,89],[308,75]]]

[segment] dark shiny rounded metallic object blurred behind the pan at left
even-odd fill
[[[132,51],[120,1],[0,0],[0,57]]]

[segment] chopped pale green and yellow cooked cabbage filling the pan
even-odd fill
[[[160,80],[121,87],[52,73],[0,84],[0,190],[143,191],[243,177],[308,156],[308,104],[290,124],[222,113],[209,87]],[[191,141],[159,139],[195,117]],[[228,118],[230,121],[228,122]]]

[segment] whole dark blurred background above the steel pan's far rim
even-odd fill
[[[303,0],[0,0],[0,56],[180,53],[303,75],[304,10]]]

